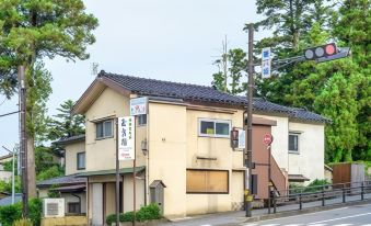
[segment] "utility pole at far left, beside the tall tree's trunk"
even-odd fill
[[[28,178],[27,178],[27,137],[26,137],[26,87],[24,66],[19,66],[19,101],[20,101],[20,158],[22,171],[22,204],[23,204],[23,218],[28,216]]]

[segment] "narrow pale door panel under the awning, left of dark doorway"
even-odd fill
[[[92,190],[92,224],[103,225],[103,184],[93,183]]]

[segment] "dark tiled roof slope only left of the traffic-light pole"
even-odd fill
[[[160,81],[131,76],[121,76],[101,71],[98,77],[107,78],[126,90],[141,95],[177,98],[190,101],[216,102],[241,105],[243,101],[237,97],[220,92],[212,87]]]

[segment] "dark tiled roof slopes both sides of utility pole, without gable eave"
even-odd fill
[[[98,74],[98,78],[108,79],[117,86],[140,95],[170,98],[184,101],[223,103],[230,105],[239,105],[242,108],[247,104],[247,100],[245,97],[237,97],[220,92],[212,87],[123,76],[108,74],[104,70]],[[297,118],[301,121],[320,123],[329,122],[329,120],[313,112],[309,112],[304,109],[283,106],[280,104],[271,103],[262,98],[254,99],[253,108],[254,111],[283,113],[291,118]]]

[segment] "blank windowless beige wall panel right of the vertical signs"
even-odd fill
[[[162,180],[164,215],[182,217],[186,213],[186,108],[149,104],[149,184]]]

